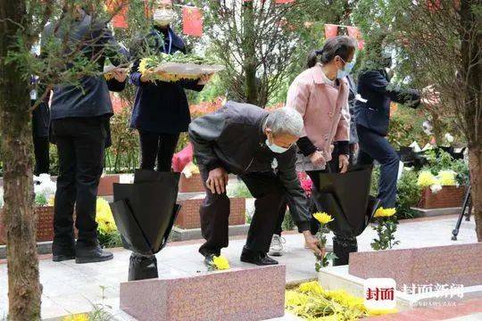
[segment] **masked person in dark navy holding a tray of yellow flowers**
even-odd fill
[[[184,41],[170,28],[175,13],[170,0],[159,0],[154,6],[154,28],[137,41],[137,60],[130,81],[137,86],[131,128],[140,136],[141,169],[170,171],[179,134],[187,131],[191,121],[185,89],[201,91],[209,78],[177,82],[151,81],[150,74],[139,72],[140,58],[145,54],[187,53]],[[147,70],[148,71],[148,70]]]

